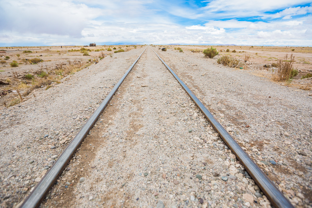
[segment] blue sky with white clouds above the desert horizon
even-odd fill
[[[311,0],[0,0],[0,46],[312,46]]]

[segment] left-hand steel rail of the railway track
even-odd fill
[[[147,48],[147,47],[146,47]],[[144,51],[146,50],[144,49]],[[46,196],[48,191],[53,186],[54,182],[58,178],[59,175],[63,172],[68,162],[71,160],[72,156],[79,148],[80,144],[84,140],[84,138],[88,135],[90,129],[93,127],[95,122],[100,117],[102,111],[105,109],[107,104],[112,99],[113,95],[116,93],[117,89],[124,81],[126,76],[129,74],[133,66],[139,60],[141,55],[134,61],[134,63],[130,66],[130,68],[126,71],[126,73],[121,77],[121,79],[117,82],[114,88],[110,91],[110,93],[106,96],[106,98],[102,101],[100,106],[95,110],[95,112],[91,115],[90,119],[82,126],[80,131],[76,134],[76,136],[72,139],[72,141],[68,144],[65,150],[62,152],[60,157],[56,160],[56,162],[51,166],[49,171],[44,175],[44,177],[39,181],[39,183],[35,186],[34,190],[27,196],[27,198],[23,201],[20,208],[33,208],[38,207],[43,200],[43,197]]]

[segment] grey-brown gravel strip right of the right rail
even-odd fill
[[[156,51],[296,207],[312,207],[312,93],[216,58]]]

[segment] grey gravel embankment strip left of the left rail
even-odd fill
[[[27,196],[143,50],[105,57],[0,111],[0,207]]]

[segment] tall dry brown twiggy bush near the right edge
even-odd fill
[[[288,54],[283,59],[277,60],[277,70],[272,74],[274,81],[286,81],[291,77],[291,71],[293,70],[293,63],[295,56],[291,54],[290,60],[288,60]]]

